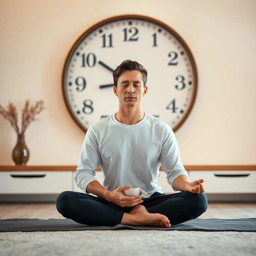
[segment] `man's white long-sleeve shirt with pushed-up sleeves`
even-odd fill
[[[96,180],[95,169],[100,166],[104,178],[102,186],[106,189],[113,191],[117,187],[132,185],[132,188],[145,190],[148,196],[142,193],[140,196],[148,198],[156,191],[163,193],[157,184],[160,164],[171,186],[179,175],[188,176],[172,128],[148,113],[132,125],[119,122],[112,114],[89,126],[75,182],[90,194],[86,187]]]

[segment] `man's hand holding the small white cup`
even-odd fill
[[[124,196],[122,191],[129,189],[131,186],[118,187],[108,192],[106,200],[113,202],[122,207],[132,207],[143,202],[141,196]]]

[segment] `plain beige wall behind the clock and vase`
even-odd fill
[[[1,0],[0,103],[19,118],[26,99],[46,104],[25,134],[27,164],[78,163],[84,132],[62,97],[64,61],[88,27],[127,13],[168,24],[195,57],[196,102],[176,132],[183,164],[256,164],[255,0]],[[0,116],[0,164],[14,164],[16,140]]]

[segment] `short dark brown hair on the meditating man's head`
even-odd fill
[[[117,88],[117,80],[125,70],[138,70],[142,73],[142,80],[144,82],[144,88],[146,86],[148,72],[140,63],[132,60],[124,60],[116,69],[113,71],[114,86]]]

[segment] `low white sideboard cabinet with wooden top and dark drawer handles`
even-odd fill
[[[204,179],[208,201],[256,202],[256,166],[184,167],[191,181]],[[63,191],[84,193],[75,183],[75,170],[76,166],[0,166],[0,202],[56,202]],[[95,178],[103,183],[100,167]],[[165,194],[180,192],[172,190],[162,166],[158,185]]]

